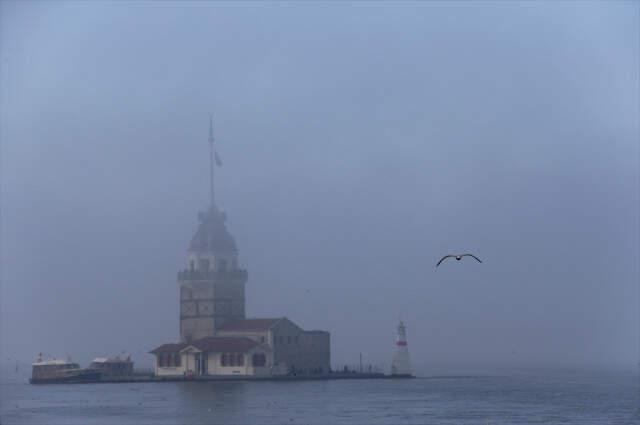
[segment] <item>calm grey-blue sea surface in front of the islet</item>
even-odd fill
[[[0,385],[3,425],[640,423],[638,375],[624,373]]]

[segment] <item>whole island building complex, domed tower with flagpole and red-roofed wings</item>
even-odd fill
[[[291,320],[247,319],[245,284],[226,215],[215,204],[213,130],[209,126],[211,204],[178,272],[180,343],[153,351],[158,376],[317,375],[331,368],[330,335],[305,331]]]

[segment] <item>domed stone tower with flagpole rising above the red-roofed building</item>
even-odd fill
[[[213,149],[209,123],[211,206],[198,215],[199,224],[187,251],[187,267],[178,272],[180,340],[213,336],[225,322],[245,318],[247,271],[238,267],[236,242],[227,230],[226,215],[215,205],[213,171],[220,159]]]

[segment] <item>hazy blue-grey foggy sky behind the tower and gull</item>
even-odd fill
[[[639,7],[2,2],[3,362],[177,340],[212,113],[249,316],[635,367]]]

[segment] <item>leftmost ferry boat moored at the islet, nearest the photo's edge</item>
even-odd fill
[[[97,369],[83,369],[78,363],[65,360],[43,361],[39,358],[32,366],[31,384],[98,382],[102,374]]]

